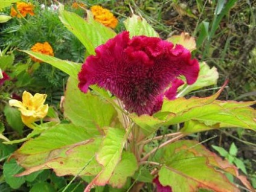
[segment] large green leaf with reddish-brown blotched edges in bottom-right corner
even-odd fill
[[[159,171],[159,181],[169,185],[173,191],[196,191],[208,188],[214,191],[238,191],[222,171],[236,176],[252,190],[237,168],[223,161],[196,141],[178,141],[165,147],[164,155],[159,160],[164,166]],[[222,170],[222,171],[217,171]]]

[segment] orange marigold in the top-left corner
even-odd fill
[[[34,5],[32,5],[31,3],[27,4],[25,2],[17,2],[17,9],[19,13],[21,13],[21,15],[24,17],[27,16],[27,14],[30,14],[31,16],[34,15]],[[17,16],[17,18],[21,18],[21,15],[18,14],[13,7],[11,7],[11,16]]]

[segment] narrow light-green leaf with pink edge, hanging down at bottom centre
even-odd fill
[[[109,127],[97,155],[97,161],[103,165],[103,170],[92,182],[95,185],[106,185],[115,168],[121,160],[126,132],[124,129]]]

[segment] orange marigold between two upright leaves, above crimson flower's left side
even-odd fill
[[[106,8],[103,8],[98,5],[94,5],[91,7],[92,14],[94,15],[94,19],[106,27],[115,28],[117,27],[118,20],[115,18],[114,14],[111,13]]]

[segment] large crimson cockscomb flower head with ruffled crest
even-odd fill
[[[78,74],[78,87],[83,92],[95,84],[107,89],[123,101],[127,111],[138,115],[160,110],[165,91],[176,77],[184,75],[191,85],[199,74],[199,63],[191,59],[190,51],[158,37],[130,39],[124,31],[95,52]]]

